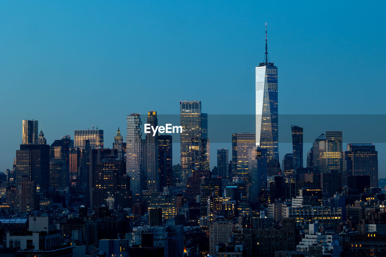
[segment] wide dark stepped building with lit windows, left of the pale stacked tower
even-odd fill
[[[116,194],[120,178],[126,175],[125,162],[117,156],[105,156],[96,167],[92,207],[107,205],[107,199],[112,197],[117,202]]]

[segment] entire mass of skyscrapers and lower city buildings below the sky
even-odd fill
[[[127,115],[125,142],[118,128],[111,149],[98,127],[47,145],[38,121],[23,120],[12,171],[0,174],[0,210],[9,218],[0,218],[0,256],[5,246],[19,254],[60,249],[28,256],[70,256],[65,252],[75,245],[84,248],[81,255],[101,257],[359,256],[366,250],[354,242],[374,248],[366,235],[380,238],[384,255],[386,196],[375,145],[349,143],[344,150],[343,132],[326,131],[303,160],[306,130],[291,125],[292,152],[279,159],[278,68],[269,61],[267,37],[255,71],[256,131],[229,135],[232,149],[217,149],[212,169],[201,101],[179,102],[177,165],[172,135],[143,137],[139,113]],[[145,118],[158,126],[156,111]],[[42,217],[50,229],[36,232]],[[27,227],[27,220],[28,231],[10,225]],[[26,239],[32,231],[38,235]],[[55,238],[51,248],[37,243],[46,237]]]

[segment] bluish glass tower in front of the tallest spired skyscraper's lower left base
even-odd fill
[[[259,201],[259,194],[267,189],[267,153],[266,148],[255,146],[248,150],[249,181],[248,196],[249,201],[256,203]]]

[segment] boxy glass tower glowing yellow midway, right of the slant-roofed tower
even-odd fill
[[[326,131],[326,140],[319,142],[319,172],[339,170],[342,157],[342,131]]]

